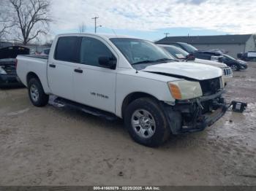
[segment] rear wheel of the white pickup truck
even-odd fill
[[[45,94],[41,82],[37,78],[29,79],[28,84],[29,98],[34,106],[46,106],[49,101],[49,95]]]

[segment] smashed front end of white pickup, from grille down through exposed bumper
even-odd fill
[[[221,77],[199,80],[197,86],[195,86],[196,82],[189,83],[192,85],[190,87],[200,92],[201,96],[176,99],[173,105],[163,103],[173,134],[203,130],[219,120],[227,111],[225,99],[222,98],[224,85]],[[194,92],[187,91],[184,97]]]

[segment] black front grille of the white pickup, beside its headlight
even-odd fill
[[[203,92],[203,95],[212,95],[217,93],[221,89],[221,77],[214,79],[205,79],[200,81],[200,86]]]

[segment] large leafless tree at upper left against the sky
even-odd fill
[[[49,0],[10,0],[15,12],[14,25],[18,28],[18,42],[26,45],[39,34],[47,34],[49,23]]]

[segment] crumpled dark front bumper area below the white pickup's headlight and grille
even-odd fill
[[[217,122],[228,108],[221,94],[177,101],[175,106],[162,103],[172,133],[197,132]]]

